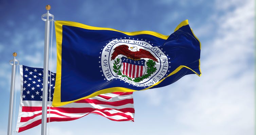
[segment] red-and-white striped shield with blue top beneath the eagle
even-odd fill
[[[130,78],[141,77],[146,72],[145,60],[132,60],[126,57],[122,57],[121,71],[124,75]]]

